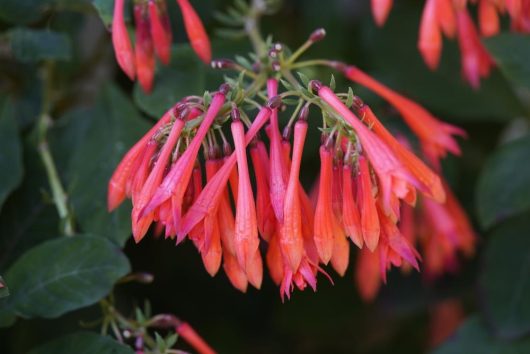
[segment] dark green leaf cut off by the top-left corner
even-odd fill
[[[0,19],[16,24],[28,24],[38,20],[50,8],[54,0],[3,0]]]

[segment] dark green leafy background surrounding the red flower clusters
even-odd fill
[[[294,48],[325,27],[326,40],[308,57],[355,63],[467,130],[462,157],[448,158],[444,168],[480,235],[477,256],[435,282],[393,272],[373,304],[360,300],[351,269],[335,276],[334,286],[320,279],[317,294],[296,292],[282,304],[268,278],[261,291],[248,294],[233,289],[224,274],[211,279],[190,243],[175,247],[147,237],[135,245],[130,206],[106,212],[108,178],[168,106],[215,89],[223,73],[195,58],[173,1],[178,44],[146,96],[114,63],[105,29],[112,0],[0,0],[0,281],[7,285],[0,289],[1,353],[130,353],[109,337],[82,332],[80,322],[98,318],[97,302],[131,270],[155,280],[115,288],[124,312],[149,299],[155,313],[189,321],[221,353],[429,352],[429,313],[449,297],[463,301],[469,318],[434,353],[530,352],[530,36],[506,32],[486,40],[498,68],[473,91],[460,77],[454,42],[444,43],[438,71],[421,61],[422,2],[396,2],[382,29],[369,1],[284,2],[264,19],[264,33]],[[193,3],[213,32],[219,23],[212,12],[228,2]],[[250,50],[245,40],[215,37],[213,49],[215,57]],[[329,80],[327,71],[305,74]],[[353,88],[401,128],[380,99]],[[60,236],[65,220],[51,201],[38,154],[38,118],[48,95],[55,104],[47,142],[75,214],[80,234],[73,238]],[[317,133],[310,138],[316,142]],[[309,185],[318,159],[317,144],[308,145],[314,145],[303,162]]]

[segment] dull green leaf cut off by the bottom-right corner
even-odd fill
[[[530,353],[530,340],[505,342],[492,337],[478,316],[470,317],[432,354],[523,354]]]

